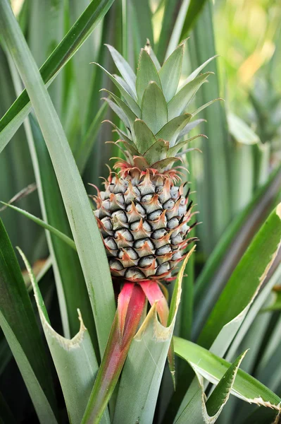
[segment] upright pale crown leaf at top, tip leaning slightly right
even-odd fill
[[[177,91],[177,86],[180,81],[180,74],[182,72],[183,52],[184,45],[180,44],[177,49],[175,49],[173,53],[170,54],[159,71],[163,93],[167,102],[170,102]]]

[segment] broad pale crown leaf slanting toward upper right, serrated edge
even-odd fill
[[[168,102],[168,118],[173,119],[177,117],[182,110],[187,107],[189,102],[194,98],[194,95],[199,90],[201,85],[206,81],[208,76],[213,72],[202,73],[197,76],[194,80],[185,84],[182,89]]]

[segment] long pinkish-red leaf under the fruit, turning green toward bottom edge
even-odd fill
[[[125,283],[118,296],[111,333],[82,424],[99,423],[125,363],[144,305],[145,295],[142,288],[134,283]]]

